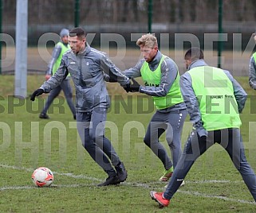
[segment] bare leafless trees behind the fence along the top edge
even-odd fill
[[[3,24],[15,21],[16,0],[3,0]],[[29,0],[29,24],[70,24],[75,0]],[[86,25],[147,23],[148,0],[80,0]],[[217,22],[218,0],[152,0],[153,23]],[[254,21],[255,0],[223,0],[223,21]]]

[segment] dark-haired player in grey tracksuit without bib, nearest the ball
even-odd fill
[[[77,130],[82,144],[108,174],[108,178],[98,186],[120,184],[126,180],[127,172],[111,142],[104,136],[107,109],[110,107],[104,72],[116,78],[124,87],[129,85],[130,80],[112,64],[104,52],[86,43],[84,29],[78,27],[69,32],[69,45],[71,50],[63,55],[57,72],[33,92],[31,100],[51,91],[70,74],[76,88]]]

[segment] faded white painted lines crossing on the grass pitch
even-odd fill
[[[12,165],[2,165],[0,164],[0,167],[3,168],[12,168],[12,169],[16,169],[16,170],[26,170],[26,171],[33,171],[33,168],[24,168],[24,167],[17,167],[17,166],[12,166]],[[72,177],[74,179],[85,179],[85,180],[94,180],[94,181],[103,181],[100,180],[98,178],[95,177],[91,177],[91,176],[84,176],[84,175],[73,175],[73,173],[61,173],[61,172],[53,172],[53,174],[57,174],[60,176],[69,176]],[[198,180],[198,181],[190,181],[190,180],[186,180],[186,184],[211,184],[211,183],[220,183],[220,184],[234,184],[234,183],[242,183],[243,181],[230,181],[230,180]],[[154,186],[152,186],[152,184],[163,184],[161,182],[151,182],[148,184],[144,184],[144,183],[138,183],[138,182],[124,182],[120,185],[129,185],[132,187],[140,187],[140,188],[156,188]],[[80,187],[96,187],[96,184],[69,184],[69,185],[52,185],[50,188],[80,188]],[[17,187],[2,187],[0,188],[0,191],[5,191],[5,190],[22,190],[22,189],[31,189],[31,188],[37,188],[34,186],[17,186]],[[156,189],[159,190],[164,190],[163,187],[157,187]],[[231,202],[235,202],[235,203],[246,203],[246,204],[256,204],[255,202],[250,202],[247,200],[243,200],[243,199],[231,199],[225,196],[211,196],[211,195],[207,195],[204,193],[200,193],[200,192],[190,192],[190,191],[184,191],[184,190],[178,190],[177,192],[179,193],[183,193],[183,194],[187,194],[187,195],[191,195],[191,196],[199,196],[199,197],[204,197],[204,198],[216,198],[216,199],[223,199],[223,200],[227,200],[227,201],[231,201]]]

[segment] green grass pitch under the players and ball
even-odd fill
[[[76,122],[67,104],[53,107],[49,120],[38,114],[46,96],[18,100],[14,76],[1,76],[0,92],[0,211],[2,212],[254,212],[256,205],[227,153],[214,145],[191,168],[183,188],[160,210],[151,190],[163,191],[158,182],[163,165],[144,145],[143,137],[153,114],[150,101],[128,96],[116,84],[108,84],[112,108],[106,136],[128,169],[128,180],[119,186],[96,187],[107,176],[89,157],[77,135]],[[238,78],[249,98],[242,118],[246,157],[256,171],[255,92],[246,77]],[[41,85],[43,76],[28,76],[28,93]],[[123,95],[123,96],[120,96]],[[56,99],[55,106],[62,99]],[[124,110],[128,105],[129,110]],[[139,103],[140,107],[137,107]],[[132,110],[131,110],[132,106]],[[64,108],[62,108],[64,107]],[[59,109],[65,111],[60,112]],[[185,123],[183,143],[191,130]],[[160,138],[167,147],[164,135]],[[169,152],[170,153],[170,152]],[[31,174],[39,166],[50,168],[53,185],[37,188]]]

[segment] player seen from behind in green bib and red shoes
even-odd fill
[[[256,201],[256,176],[249,163],[240,134],[246,91],[230,72],[208,66],[199,48],[185,54],[187,72],[180,77],[180,87],[190,114],[193,130],[165,192],[150,192],[160,207],[167,207],[196,159],[219,143],[229,154]]]

